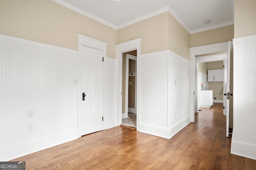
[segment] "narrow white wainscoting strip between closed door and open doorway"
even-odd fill
[[[106,119],[104,119],[104,129],[117,126],[116,64],[116,59],[106,58]]]

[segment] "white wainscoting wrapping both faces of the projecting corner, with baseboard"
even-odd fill
[[[189,61],[161,51],[140,62],[140,131],[170,139],[190,123]]]

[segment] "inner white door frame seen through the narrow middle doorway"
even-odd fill
[[[126,78],[125,78],[125,114],[126,117],[128,117],[128,90],[129,90],[129,59],[130,60],[134,60],[135,61],[135,104],[134,104],[134,112],[136,114],[136,88],[137,88],[137,71],[136,71],[136,67],[137,67],[137,57],[130,55],[130,54],[126,54]]]

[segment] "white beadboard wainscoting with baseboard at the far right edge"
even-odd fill
[[[231,153],[256,160],[256,35],[234,44],[234,127]]]

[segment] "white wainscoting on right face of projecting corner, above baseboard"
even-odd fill
[[[189,61],[169,51],[168,127],[189,117]],[[175,117],[176,113],[176,117]],[[190,121],[183,123],[187,125]],[[182,126],[183,127],[183,126]]]

